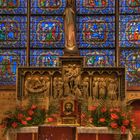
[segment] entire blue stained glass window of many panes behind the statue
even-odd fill
[[[116,65],[115,0],[75,0],[76,40],[87,67]],[[31,0],[30,65],[57,67],[63,55],[66,0]],[[120,65],[140,86],[140,0],[119,1]],[[26,63],[27,0],[0,0],[0,85],[14,85]]]

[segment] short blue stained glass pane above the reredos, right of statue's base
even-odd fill
[[[115,66],[114,50],[80,50],[80,55],[85,56],[85,65],[88,67]]]

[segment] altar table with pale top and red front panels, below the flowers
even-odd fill
[[[132,140],[129,130],[125,134],[107,127],[47,126],[24,127],[9,131],[6,140]]]

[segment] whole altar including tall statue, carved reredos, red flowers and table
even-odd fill
[[[74,5],[67,1],[59,65],[17,69],[20,107],[31,106],[10,122],[11,128],[22,128],[9,130],[7,140],[132,140],[133,124],[123,110],[125,68],[87,66],[76,46]]]

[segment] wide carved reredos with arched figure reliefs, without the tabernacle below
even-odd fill
[[[59,58],[59,67],[19,67],[17,96],[19,99],[38,96],[42,99],[125,97],[125,69],[118,67],[86,67],[80,56]]]

